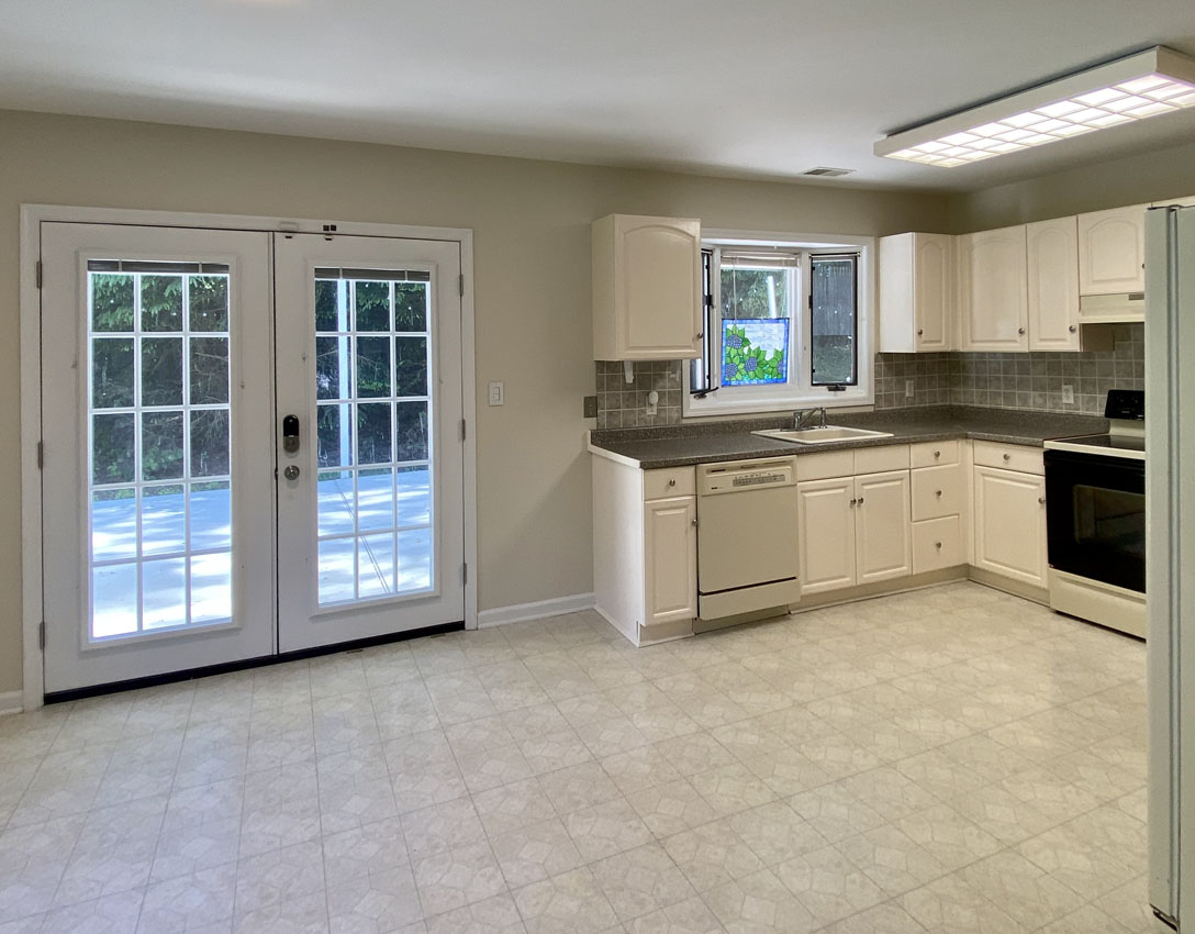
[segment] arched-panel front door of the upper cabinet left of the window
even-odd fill
[[[620,359],[700,354],[701,230],[695,220],[614,218]]]

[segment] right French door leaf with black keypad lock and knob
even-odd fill
[[[281,651],[462,621],[459,244],[275,236]]]

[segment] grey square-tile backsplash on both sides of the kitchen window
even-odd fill
[[[986,405],[1029,411],[1102,415],[1110,389],[1145,389],[1145,325],[1115,325],[1111,350],[1019,354],[876,354],[876,409],[914,405]],[[623,364],[598,361],[598,428],[678,425],[686,391],[687,361],[635,364],[635,383]],[[913,380],[913,395],[906,383]],[[1062,402],[1062,386],[1074,392]],[[656,390],[656,414],[648,393]]]

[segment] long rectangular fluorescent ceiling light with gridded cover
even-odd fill
[[[876,155],[969,165],[1195,105],[1195,59],[1164,45],[894,133]]]

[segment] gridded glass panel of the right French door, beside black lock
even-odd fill
[[[431,283],[338,271],[314,281],[320,606],[434,587]]]

